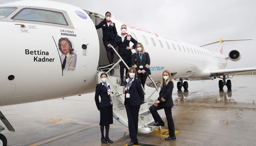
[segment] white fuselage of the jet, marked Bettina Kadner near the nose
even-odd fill
[[[17,7],[11,14],[13,16],[22,8],[29,6],[63,12],[69,26],[11,19],[1,21],[0,19],[0,106],[94,92],[100,59],[99,39],[102,38],[98,37],[95,24],[89,15],[79,7],[53,1],[16,1],[0,5],[0,8]],[[87,19],[79,17],[78,13],[75,13],[77,11],[83,12]],[[121,25],[124,23],[118,20],[112,21],[116,24],[117,32],[120,34]],[[26,28],[22,28],[20,24],[25,25]],[[144,45],[145,51],[149,53],[153,80],[160,80],[163,70],[176,73],[173,79],[208,78],[209,70],[222,69],[227,64],[220,53],[152,31],[127,24],[127,32],[132,37],[136,37],[137,41]],[[61,37],[71,40],[74,53],[77,55],[73,72],[62,72],[61,54],[58,49],[58,41]],[[143,37],[147,39],[148,45]],[[153,45],[151,38],[154,39],[156,46]],[[86,50],[82,49],[83,44],[88,44]],[[8,80],[9,75],[14,75],[15,78]]]

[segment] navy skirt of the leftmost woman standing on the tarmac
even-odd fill
[[[113,124],[113,107],[100,108],[100,125],[107,126]]]

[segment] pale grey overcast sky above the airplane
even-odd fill
[[[12,0],[0,0],[0,3]],[[194,45],[225,39],[254,39],[224,42],[223,54],[230,50],[242,53],[238,62],[228,61],[227,68],[256,66],[255,0],[53,0],[69,3],[133,24],[158,34],[171,36]],[[219,44],[206,46],[218,52]]]

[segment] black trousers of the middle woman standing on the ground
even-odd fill
[[[138,142],[137,133],[138,133],[138,122],[139,122],[139,110],[140,105],[138,106],[129,106],[125,105],[127,118],[128,118],[128,128],[131,142]]]

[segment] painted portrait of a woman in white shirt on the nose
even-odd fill
[[[62,53],[60,56],[62,71],[74,71],[76,66],[76,54],[73,52],[72,43],[68,38],[60,38],[58,46]]]

